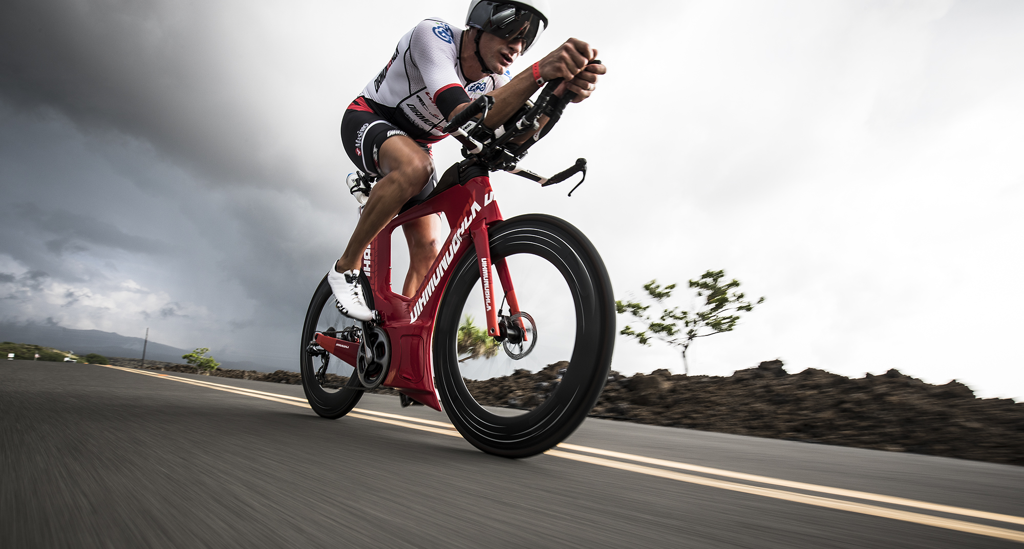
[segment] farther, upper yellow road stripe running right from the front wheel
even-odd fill
[[[729,471],[726,469],[716,469],[714,467],[703,467],[701,465],[692,465],[689,463],[680,463],[678,461],[660,460],[656,458],[648,458],[646,456],[637,456],[635,454],[624,454],[622,452],[612,452],[610,450],[601,450],[597,448],[582,447],[577,445],[569,445],[562,442],[558,445],[558,448],[565,450],[572,450],[575,452],[585,452],[587,454],[596,454],[598,456],[607,456],[609,458],[617,458],[630,461],[636,461],[640,463],[646,463],[648,465],[657,465],[660,467],[672,467],[675,469],[683,469],[687,471],[693,471],[698,473],[714,474],[717,476],[725,476],[728,478],[738,478],[740,480],[749,480],[752,482],[761,482],[765,484],[774,484],[777,487],[793,488],[797,490],[807,490],[810,492],[820,492],[822,494],[831,494],[833,496],[845,496],[847,498],[856,498],[858,500],[868,500],[877,501],[880,503],[890,503],[893,505],[902,505],[905,507],[916,507],[919,509],[928,509],[929,511],[938,511],[940,513],[950,513],[959,514],[965,516],[973,516],[975,518],[984,518],[988,520],[999,520],[1001,522],[1012,522],[1014,524],[1024,524],[1024,517],[1014,516],[1008,514],[990,513],[987,511],[979,511],[977,509],[968,509],[965,507],[953,507],[952,505],[941,505],[938,503],[929,503],[919,500],[909,500],[905,498],[897,498],[894,496],[885,496],[882,494],[871,494],[869,492],[858,492],[856,490],[845,490],[841,488],[824,487],[821,484],[810,484],[807,482],[797,482],[795,480],[785,480],[782,478],[773,478],[771,476],[761,476],[758,474],[748,474],[740,473],[736,471]]]

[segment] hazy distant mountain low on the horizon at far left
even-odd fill
[[[142,343],[144,340],[140,337],[126,337],[114,332],[101,332],[99,330],[73,330],[60,326],[26,326],[0,323],[0,341],[31,343],[44,347],[74,351],[76,354],[95,352],[103,356],[141,358]],[[145,347],[145,360],[183,363],[184,361],[181,360],[181,355],[190,350],[150,341]],[[255,370],[257,372],[273,372],[278,370],[278,368],[271,368],[250,361],[220,361],[220,366],[221,368]]]

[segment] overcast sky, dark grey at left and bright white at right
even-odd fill
[[[513,72],[574,36],[608,74],[523,165],[590,176],[566,198],[495,175],[506,217],[581,227],[618,297],[709,268],[766,296],[691,373],[781,358],[1024,399],[1024,3],[554,4]],[[344,109],[417,22],[465,9],[6,2],[0,320],[292,365],[355,224]],[[612,368],[682,362],[621,339]]]

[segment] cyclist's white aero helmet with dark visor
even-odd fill
[[[471,0],[466,13],[466,27],[475,27],[502,40],[520,37],[525,52],[548,28],[547,11],[547,0]]]

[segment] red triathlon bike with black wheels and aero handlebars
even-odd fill
[[[489,179],[489,172],[506,170],[550,185],[582,173],[572,189],[583,183],[585,159],[550,178],[517,167],[571,98],[555,97],[557,85],[548,83],[536,102],[526,101],[494,130],[479,123],[494,101],[487,95],[445,126],[463,143],[466,160],[423,201],[407,204],[364,254],[362,288],[374,321],[342,315],[327,277],[321,281],[306,312],[301,353],[302,385],[318,415],[340,418],[366,390],[392,387],[402,406],[443,410],[483,452],[522,458],[562,441],[590,413],[607,380],[615,338],[604,262],[587,237],[557,217],[504,219]],[[541,131],[513,142],[541,127],[542,117],[548,123]],[[365,193],[369,183],[365,176],[359,181]],[[431,214],[441,214],[451,234],[409,298],[391,288],[391,234]],[[489,345],[489,356],[460,353],[471,344],[460,345],[460,337],[472,335],[465,325],[474,319],[486,323],[486,335],[476,331],[472,344],[487,338],[499,343]],[[495,402],[503,380],[528,383],[530,392]]]

